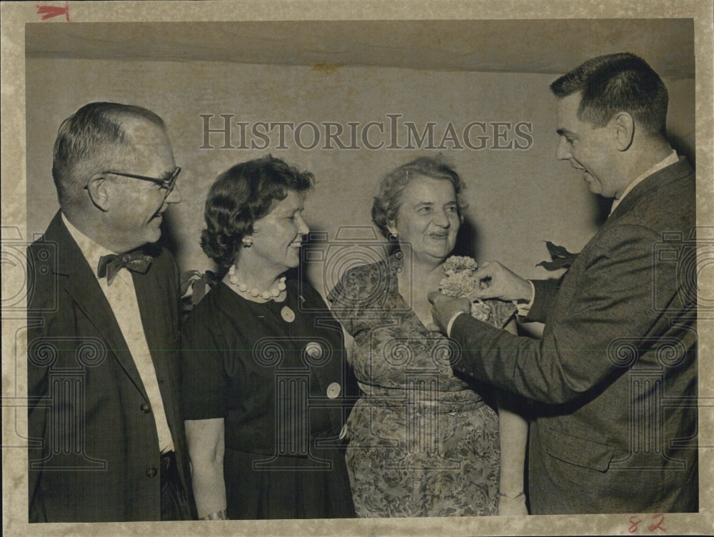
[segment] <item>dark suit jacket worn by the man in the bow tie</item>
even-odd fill
[[[132,276],[178,470],[190,491],[175,351],[178,268],[168,251],[152,253],[149,270]],[[159,521],[159,441],[149,398],[59,212],[28,255],[29,521]]]

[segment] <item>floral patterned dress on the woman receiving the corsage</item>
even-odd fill
[[[352,268],[328,296],[355,340],[362,392],[347,422],[357,515],[496,514],[498,416],[454,376],[453,342],[428,331],[398,292],[400,265],[397,253]]]

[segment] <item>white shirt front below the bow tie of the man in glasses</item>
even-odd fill
[[[99,258],[116,252],[109,251],[104,246],[96,244],[96,242],[89,239],[88,236],[76,229],[66,219],[64,213],[62,214],[62,221],[64,221],[69,234],[79,246],[84,259],[89,263],[94,276],[96,276]],[[139,302],[136,299],[134,279],[131,278],[131,273],[126,268],[121,268],[116,273],[114,280],[111,281],[111,286],[107,285],[106,278],[99,278],[99,276],[97,276],[97,283],[99,283],[101,291],[109,302],[109,307],[111,307],[114,318],[116,318],[116,322],[121,329],[121,335],[124,336],[126,346],[129,348],[129,353],[131,353],[131,358],[139,371],[146,395],[149,397],[149,404],[154,412],[154,420],[156,421],[156,434],[159,436],[161,453],[171,451],[174,449],[174,440],[171,438],[169,423],[166,421],[166,411],[164,410],[161,391],[159,391],[159,381],[156,379],[154,361],[151,360],[149,343],[146,343],[146,334],[141,323],[141,313],[139,311]]]

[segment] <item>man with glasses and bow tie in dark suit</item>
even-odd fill
[[[91,103],[59,128],[60,210],[28,249],[31,522],[194,516],[178,268],[155,244],[180,171],[139,106]]]

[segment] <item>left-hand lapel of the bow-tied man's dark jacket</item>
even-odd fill
[[[57,244],[57,273],[59,276],[66,276],[65,291],[84,313],[86,321],[91,323],[104,339],[109,355],[116,359],[141,395],[147,398],[139,371],[131,358],[129,346],[121,335],[119,323],[116,322],[111,311],[109,301],[101,291],[94,271],[64,226],[59,212],[47,228],[45,237],[47,241],[54,241]]]

